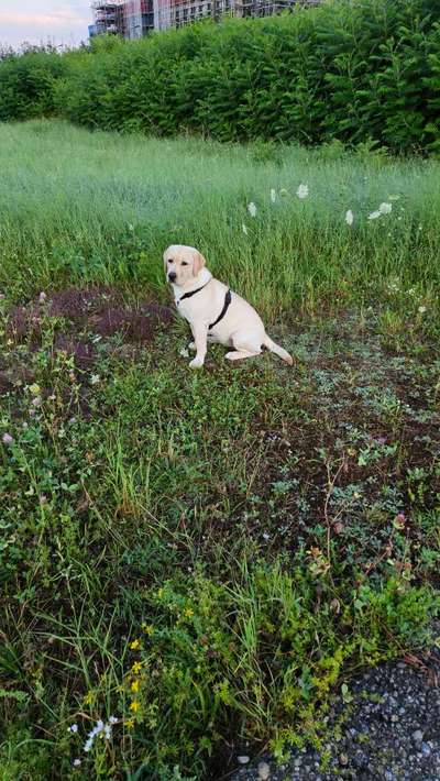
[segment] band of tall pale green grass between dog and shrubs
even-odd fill
[[[392,277],[438,290],[436,161],[33,121],[0,125],[0,284],[15,297],[79,282],[162,295],[162,253],[175,242],[200,248],[268,317],[341,293],[365,300]],[[386,201],[392,212],[370,220]]]

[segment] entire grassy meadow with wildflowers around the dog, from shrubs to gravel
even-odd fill
[[[440,163],[35,120],[0,168],[0,780],[319,748],[439,607]],[[294,369],[188,369],[177,242]]]

